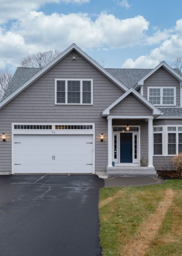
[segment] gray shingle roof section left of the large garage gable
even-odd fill
[[[31,79],[40,70],[41,68],[17,68],[1,101],[4,101],[4,99],[14,93],[14,91]]]

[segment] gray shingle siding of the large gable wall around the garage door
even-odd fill
[[[72,55],[76,61],[72,61]],[[93,105],[55,105],[55,78],[93,79]],[[95,123],[95,170],[106,170],[108,164],[107,119],[101,113],[118,99],[123,91],[76,52],[70,53],[46,74],[0,110],[0,171],[11,171],[11,123]],[[104,142],[99,135],[104,133]],[[6,153],[4,157],[4,153]]]

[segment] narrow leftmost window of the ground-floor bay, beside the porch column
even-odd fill
[[[154,127],[154,155],[162,155],[162,131],[163,127]]]

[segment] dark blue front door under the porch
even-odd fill
[[[132,163],[132,133],[120,133],[120,163]]]

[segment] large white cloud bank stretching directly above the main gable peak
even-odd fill
[[[0,30],[0,56],[6,64],[17,65],[27,54],[49,49],[64,50],[73,42],[82,49],[124,48],[139,44],[149,22],[143,16],[118,19],[101,13],[95,21],[88,14],[45,15],[32,11]]]

